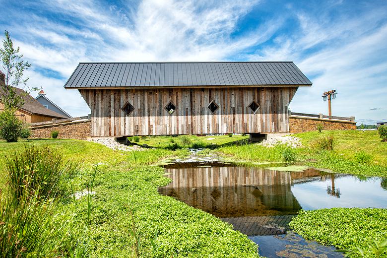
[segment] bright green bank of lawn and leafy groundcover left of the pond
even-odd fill
[[[4,171],[4,155],[24,145],[49,146],[60,151],[64,158],[81,161],[80,170],[68,179],[75,191],[90,187],[93,164],[100,163],[93,184],[94,195],[75,200],[64,195],[55,202],[50,213],[53,222],[44,225],[60,224],[69,231],[61,235],[64,244],[56,247],[58,252],[50,254],[52,257],[73,256],[69,252],[79,247],[91,257],[258,257],[256,245],[231,225],[158,194],[157,188],[168,184],[170,179],[163,176],[162,168],[149,164],[187,155],[186,149],[124,153],[80,140],[0,142],[1,171]],[[5,185],[1,188],[4,190]],[[135,233],[131,234],[132,231]]]

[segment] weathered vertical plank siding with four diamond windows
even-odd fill
[[[288,106],[297,87],[84,89],[92,136],[287,132]],[[207,108],[214,100],[214,115]],[[255,100],[259,110],[248,107]],[[129,116],[121,110],[129,102]],[[176,111],[169,115],[165,106]]]

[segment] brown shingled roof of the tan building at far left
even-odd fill
[[[41,115],[46,117],[52,117],[52,118],[58,118],[58,119],[65,119],[67,117],[49,110],[45,108],[42,104],[40,104],[36,99],[34,99],[30,94],[28,94],[26,91],[20,88],[14,88],[12,87],[16,94],[19,96],[22,96],[24,99],[24,104],[22,107],[19,107],[21,110],[24,110],[32,115]],[[3,91],[0,89],[0,98],[3,95]]]

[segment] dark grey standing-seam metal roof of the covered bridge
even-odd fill
[[[65,88],[310,86],[293,62],[79,63]]]

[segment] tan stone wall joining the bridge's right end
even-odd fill
[[[289,132],[292,133],[315,131],[319,124],[323,125],[323,130],[356,129],[356,122],[289,116]]]

